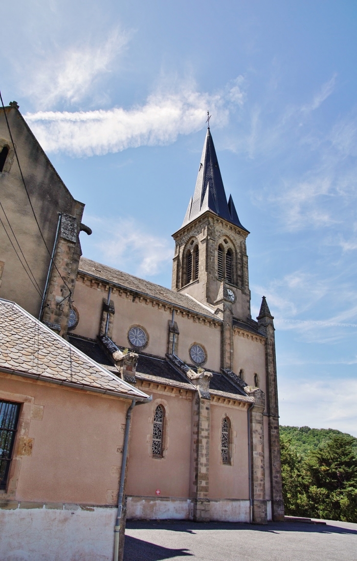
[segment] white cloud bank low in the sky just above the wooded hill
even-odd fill
[[[357,380],[279,378],[281,425],[337,429],[357,436]]]

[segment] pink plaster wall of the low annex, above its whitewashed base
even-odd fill
[[[35,408],[26,439],[15,442],[16,489],[11,497],[0,491],[0,500],[115,504],[130,401],[10,374],[0,381],[2,399],[22,394]]]

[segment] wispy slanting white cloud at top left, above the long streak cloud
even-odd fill
[[[110,72],[114,58],[123,50],[128,34],[112,31],[102,44],[72,45],[38,60],[26,76],[26,95],[43,108],[58,101],[77,103],[93,88],[94,81]],[[92,92],[92,95],[93,92]]]

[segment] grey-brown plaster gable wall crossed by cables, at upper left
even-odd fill
[[[55,241],[58,213],[69,213],[82,218],[84,205],[78,203],[67,190],[46,154],[31,134],[21,114],[15,108],[6,108],[8,121],[15,141],[22,173],[28,187],[31,203],[49,251]],[[22,183],[19,166],[13,153],[3,111],[0,114],[0,145],[10,146],[8,155],[11,165],[0,173],[1,202],[11,223],[21,250],[43,291],[46,283],[50,256],[40,237],[38,226]],[[16,242],[8,227],[3,211],[0,216],[6,224],[13,243]],[[17,251],[20,253],[19,249]],[[0,261],[4,262],[1,276],[0,296],[17,302],[30,314],[38,316],[41,297],[38,295],[28,275],[11,246],[4,229],[0,229]]]

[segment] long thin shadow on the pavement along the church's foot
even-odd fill
[[[279,534],[279,532],[309,532],[309,533],[312,532],[316,534],[357,535],[357,530],[354,530],[353,528],[346,528],[346,527],[343,528],[339,526],[333,526],[331,522],[329,522],[328,525],[326,526],[322,524],[307,524],[302,522],[268,522],[266,526],[265,525],[263,526],[258,524],[245,524],[243,522],[203,522],[202,523],[202,522],[190,522],[187,520],[175,520],[175,521],[128,520],[126,522],[126,528],[128,528],[128,530],[170,530],[173,532],[186,532],[187,534],[196,534],[197,530],[250,530],[253,532],[272,532],[274,534]],[[125,537],[125,544],[126,544],[126,540],[128,540],[128,537],[129,536]],[[175,555],[178,554],[176,553]],[[182,555],[189,555],[189,554],[182,553]],[[174,557],[174,555],[172,555],[172,557]],[[165,559],[165,558],[157,557],[157,559]]]

